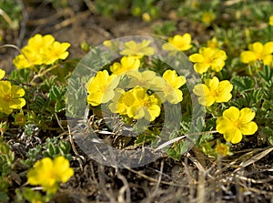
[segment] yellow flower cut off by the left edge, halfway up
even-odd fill
[[[20,86],[12,86],[9,81],[0,81],[0,112],[7,115],[14,109],[21,109],[25,106],[25,90]]]

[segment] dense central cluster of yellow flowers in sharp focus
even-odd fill
[[[139,56],[138,51],[123,56],[120,63],[110,66],[111,76],[103,70],[91,77],[86,83],[87,103],[96,107],[110,102],[108,107],[113,113],[153,121],[160,115],[163,102],[181,102],[183,94],[179,88],[186,83],[186,78],[177,76],[175,70],[167,70],[162,77],[151,70],[139,72]],[[126,88],[118,86],[121,81],[128,81]]]

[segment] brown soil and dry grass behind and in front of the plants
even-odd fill
[[[83,42],[97,46],[106,39],[122,36],[155,36],[152,26],[162,23],[162,19],[147,23],[141,17],[122,14],[105,17],[82,5],[57,10],[50,4],[26,2],[28,19],[23,20],[19,30],[2,30],[5,36],[2,45],[22,47],[35,33],[52,34],[58,41],[71,44],[70,58],[81,58],[86,55],[80,47]],[[202,24],[190,24],[173,13],[166,15],[165,20],[177,21],[174,34],[189,32],[199,41],[210,38],[210,28]],[[1,67],[12,70],[17,50],[1,48],[0,51]],[[218,160],[204,156],[196,148],[179,161],[162,155],[143,167],[114,168],[87,157],[72,139],[75,145],[72,154],[76,159],[71,164],[76,174],[62,185],[53,201],[273,202],[273,149],[255,146],[254,137],[249,140],[253,146],[248,147],[245,142],[234,156]]]

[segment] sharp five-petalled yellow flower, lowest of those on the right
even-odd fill
[[[255,112],[245,107],[239,110],[237,107],[229,107],[224,111],[223,117],[217,118],[217,131],[224,134],[227,142],[237,144],[243,135],[253,135],[257,130],[257,124],[252,121]]]

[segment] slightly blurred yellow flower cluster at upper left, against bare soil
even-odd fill
[[[66,59],[68,43],[60,43],[51,35],[41,36],[36,34],[31,37],[27,46],[21,49],[21,54],[14,59],[14,65],[18,69],[31,68],[35,70],[37,65],[51,65],[58,59]]]

